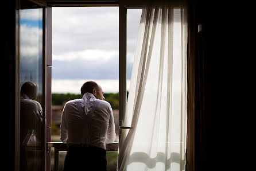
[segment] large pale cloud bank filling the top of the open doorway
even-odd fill
[[[118,7],[53,7],[53,54],[118,50],[118,14]]]

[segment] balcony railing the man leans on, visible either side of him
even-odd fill
[[[48,142],[48,147],[54,147],[54,170],[59,171],[59,151],[67,151],[67,144],[63,142]],[[107,151],[118,151],[118,142],[107,143]]]

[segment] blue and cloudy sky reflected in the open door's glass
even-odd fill
[[[42,93],[42,9],[21,10],[21,85],[33,81]]]

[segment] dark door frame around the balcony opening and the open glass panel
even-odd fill
[[[65,1],[65,0],[28,0],[42,7],[42,114],[44,139],[44,161],[42,170],[51,170],[51,79],[52,79],[52,7],[81,7],[81,6],[119,6],[119,126],[125,117],[126,91],[126,26],[127,9],[142,8],[138,1],[107,0],[107,1]],[[20,170],[20,3],[15,0],[15,20],[18,23],[15,30],[15,170]],[[121,139],[121,131],[119,131]],[[50,164],[48,164],[50,162]]]

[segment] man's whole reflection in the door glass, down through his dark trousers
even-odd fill
[[[42,107],[36,101],[37,91],[37,84],[32,81],[22,84],[20,94],[21,170],[42,170],[41,158],[36,157],[40,154],[40,150],[33,150],[34,147],[38,149],[42,147]]]

